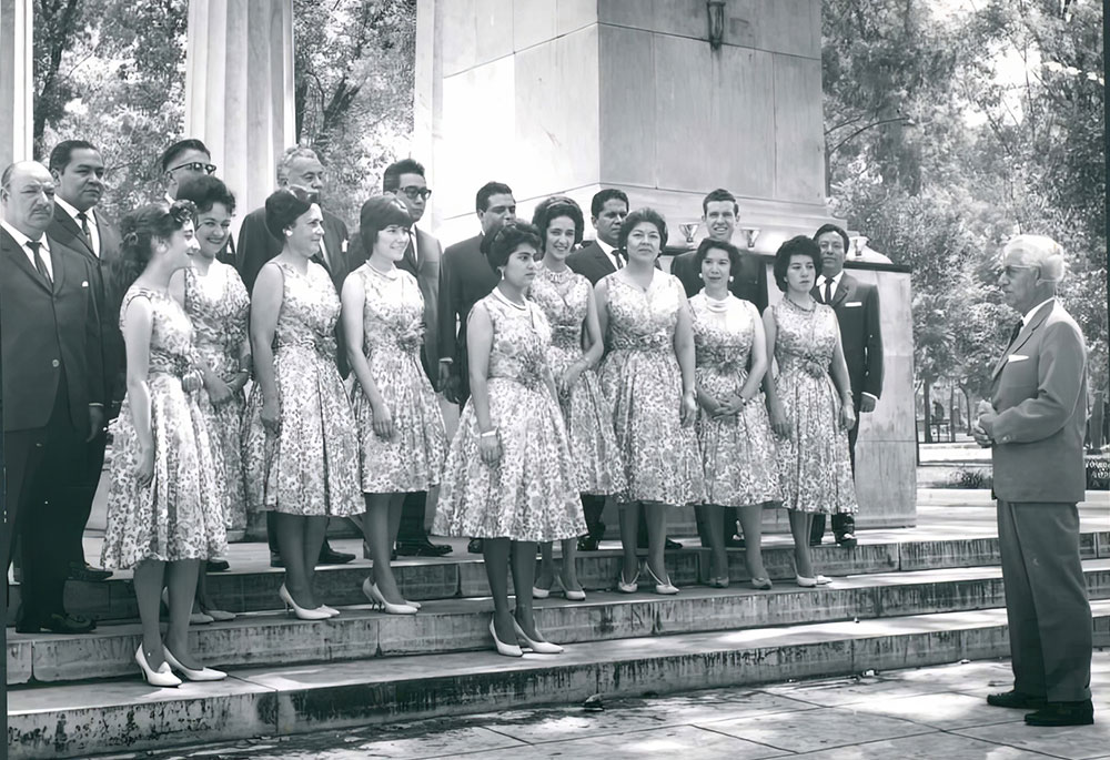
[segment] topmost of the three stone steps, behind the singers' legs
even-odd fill
[[[687,541],[687,548],[667,554],[667,569],[679,587],[704,582],[709,577],[709,553]],[[1086,531],[1081,535],[1081,554],[1084,559],[1110,557],[1110,531]],[[209,590],[221,609],[232,612],[254,612],[280,607],[278,588],[284,571],[270,568],[254,551],[250,560],[236,558],[232,547],[232,569],[208,576]],[[262,553],[261,556],[265,556]],[[935,540],[890,540],[869,538],[864,534],[859,545],[851,550],[833,544],[813,548],[814,565],[829,576],[891,572],[956,567],[998,565],[998,538],[940,538]],[[728,551],[729,577],[734,582],[748,580],[744,566],[744,550]],[[394,564],[397,582],[406,599],[452,599],[490,595],[485,566],[477,555],[448,555],[441,558],[398,558]],[[789,539],[767,537],[764,546],[764,565],[773,579],[794,577],[794,550]],[[578,579],[587,590],[614,589],[620,571],[620,551],[607,548],[578,555]],[[370,572],[370,563],[355,560],[351,565],[322,567],[316,575],[320,596],[330,605],[359,605],[364,602],[361,587]],[[12,589],[9,625],[14,622],[19,606],[18,586]],[[130,574],[103,584],[67,585],[67,609],[101,621],[137,620],[139,610]]]

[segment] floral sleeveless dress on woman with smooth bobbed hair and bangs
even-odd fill
[[[374,412],[355,377],[351,392],[362,490],[393,494],[428,490],[440,483],[447,442],[435,391],[421,367],[424,297],[416,277],[394,268],[382,274],[369,263],[350,276],[365,291],[362,345],[370,374],[393,418],[393,437],[374,434]]]

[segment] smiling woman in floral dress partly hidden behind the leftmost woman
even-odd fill
[[[170,280],[170,294],[193,323],[193,345],[204,391],[196,403],[208,424],[215,463],[216,485],[223,495],[228,540],[241,540],[246,531],[246,488],[243,479],[242,429],[246,394],[243,387],[251,377],[251,342],[246,318],[251,307],[246,287],[235,267],[216,260],[231,239],[231,215],[235,196],[221,180],[200,176],[184,183],[178,200],[196,206],[196,242],[200,252],[193,265],[179,270]],[[208,563],[210,570],[224,570],[226,561]],[[196,584],[199,609],[194,621],[204,616],[231,620],[232,612],[215,607],[208,594],[206,574]]]

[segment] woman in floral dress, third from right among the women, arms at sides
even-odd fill
[[[617,589],[634,594],[639,578],[637,528],[647,523],[645,564],[656,594],[677,594],[664,564],[667,507],[702,504],[705,480],[694,420],[694,333],[686,292],[655,267],[667,223],[652,209],[628,214],[619,245],[627,266],[595,286],[607,354],[601,383],[609,404],[627,487],[619,495],[624,566]]]

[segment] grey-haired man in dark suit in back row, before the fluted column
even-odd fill
[[[316,152],[311,148],[290,148],[282,154],[278,162],[278,186],[302,188],[313,193],[319,199],[324,189],[324,166],[316,158]],[[343,281],[351,272],[347,262],[347,229],[339,216],[329,213],[323,207],[321,212],[324,216],[324,240],[320,244],[320,254],[313,256],[313,261],[322,265],[332,277],[335,292],[343,290]],[[254,281],[262,271],[263,265],[281,253],[282,242],[270,234],[266,230],[266,209],[260,206],[255,209],[246,219],[239,231],[239,256],[236,265],[239,275],[246,285],[246,292],[253,293]],[[335,344],[343,346],[342,321],[335,325]],[[335,363],[339,365],[340,374],[345,378],[351,368],[347,366],[345,351],[336,352]],[[266,513],[266,534],[270,538],[270,565],[281,567],[281,555],[278,551],[276,529],[274,527],[274,513]],[[324,539],[324,545],[320,549],[321,565],[342,565],[354,559],[353,554],[336,551]]]

